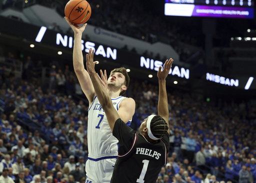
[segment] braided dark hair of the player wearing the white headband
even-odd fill
[[[167,130],[169,130],[168,124],[160,115],[155,115],[152,118],[150,122],[150,129],[156,138],[162,138]]]

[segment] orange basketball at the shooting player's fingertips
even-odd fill
[[[65,6],[65,16],[71,23],[85,23],[91,14],[90,4],[86,0],[69,0]]]

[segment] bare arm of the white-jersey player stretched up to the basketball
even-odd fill
[[[74,71],[81,85],[82,91],[86,95],[87,99],[89,100],[89,105],[90,105],[93,100],[95,92],[90,80],[90,76],[88,72],[84,69],[82,49],[81,49],[82,32],[85,29],[85,26],[87,25],[87,23],[83,24],[82,26],[78,26],[76,24],[72,24],[67,17],[65,17],[65,20],[70,25],[70,27],[74,32],[74,48],[73,48]]]

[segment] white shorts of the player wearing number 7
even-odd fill
[[[116,158],[101,160],[88,159],[85,164],[86,183],[109,183],[112,177]]]

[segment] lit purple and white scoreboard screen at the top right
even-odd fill
[[[164,14],[254,18],[254,0],[165,0]]]

